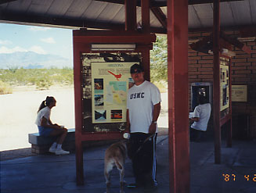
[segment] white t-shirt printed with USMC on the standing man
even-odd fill
[[[153,105],[159,102],[161,102],[159,89],[147,80],[128,90],[127,109],[129,110],[131,133],[149,133],[153,119]]]

